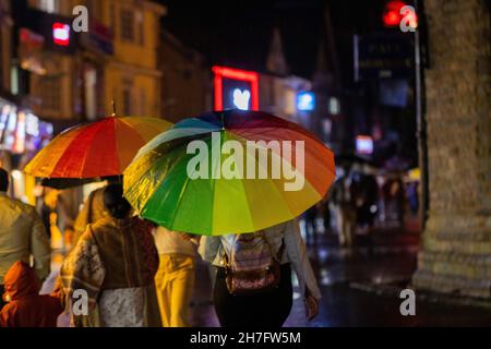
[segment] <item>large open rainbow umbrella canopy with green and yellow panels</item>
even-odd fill
[[[279,172],[279,173],[278,173]],[[177,123],[123,173],[140,215],[197,234],[252,232],[322,200],[333,153],[296,123],[258,111],[215,111]]]

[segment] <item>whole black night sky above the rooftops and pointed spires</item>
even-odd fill
[[[352,34],[376,25],[385,0],[160,0],[164,28],[199,50],[211,64],[264,71],[273,28],[283,37],[290,72],[308,79],[325,39],[324,9],[331,10],[340,70],[350,77]],[[375,23],[373,23],[375,22]]]

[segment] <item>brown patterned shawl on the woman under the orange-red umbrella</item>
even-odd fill
[[[72,306],[77,289],[86,291],[91,312],[105,289],[152,285],[158,253],[151,231],[152,226],[139,217],[107,217],[87,226],[60,269],[67,305]]]

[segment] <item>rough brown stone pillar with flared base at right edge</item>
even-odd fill
[[[486,0],[427,0],[430,210],[416,288],[491,298],[491,36]]]

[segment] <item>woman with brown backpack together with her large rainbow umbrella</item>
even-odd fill
[[[295,220],[335,178],[334,155],[315,135],[261,111],[214,111],[154,137],[123,174],[124,197],[142,217],[205,236],[200,250],[218,267],[224,326],[282,326],[291,267],[308,317],[316,315],[321,293]]]

